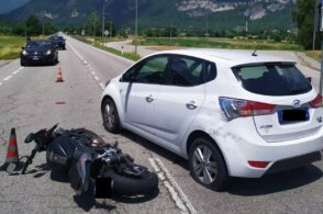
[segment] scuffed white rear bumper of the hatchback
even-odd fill
[[[260,178],[267,173],[301,167],[323,157],[323,128],[300,139],[267,143],[256,132],[253,121],[237,131],[236,124],[224,125],[211,136],[221,148],[229,173],[233,177]],[[232,132],[237,131],[237,132]],[[268,161],[266,168],[252,167],[248,161]]]

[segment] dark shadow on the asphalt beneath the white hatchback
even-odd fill
[[[172,164],[180,166],[181,168],[186,169],[189,174],[188,161],[183,158],[166,150],[163,147],[159,147],[158,145],[147,139],[142,138],[134,133],[123,131],[121,135],[170,160]],[[322,176],[323,172],[320,168],[314,165],[309,165],[280,173],[268,174],[259,179],[232,178],[227,193],[250,196],[282,192],[312,183],[321,179]]]

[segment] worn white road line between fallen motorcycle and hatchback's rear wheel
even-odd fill
[[[162,160],[159,158],[148,158],[148,160],[153,166],[155,172],[157,173],[159,180],[167,188],[177,207],[182,213],[198,213],[191,204],[191,202],[186,196],[186,194],[179,188],[177,182],[174,180],[174,178],[171,177],[165,165],[162,162]]]

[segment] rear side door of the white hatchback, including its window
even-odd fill
[[[177,56],[169,66],[168,82],[156,101],[156,135],[179,144],[204,100],[205,61]]]

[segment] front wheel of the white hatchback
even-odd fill
[[[102,104],[102,119],[104,128],[110,132],[118,134],[121,131],[120,117],[118,109],[112,99],[108,98]]]

